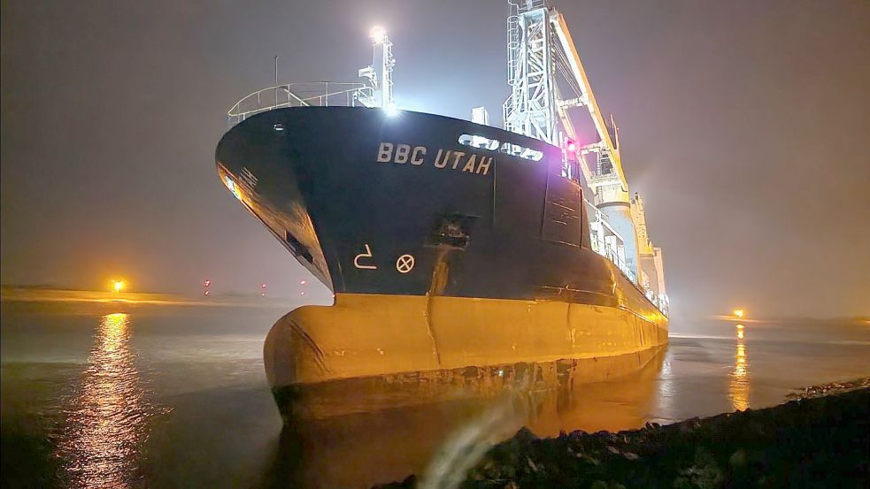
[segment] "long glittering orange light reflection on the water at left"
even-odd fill
[[[130,348],[125,313],[100,318],[88,368],[65,411],[58,455],[76,487],[128,487],[141,478],[139,454],[151,406]]]

